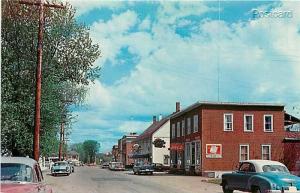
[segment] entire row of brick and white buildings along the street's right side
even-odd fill
[[[218,177],[239,161],[268,159],[300,171],[300,120],[281,104],[196,102],[162,117],[140,135],[124,135],[116,161],[161,163],[173,172]]]

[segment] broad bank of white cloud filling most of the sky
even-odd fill
[[[99,117],[171,113],[176,101],[187,106],[197,100],[217,100],[218,64],[221,100],[285,104],[300,100],[299,3],[299,9],[291,2],[280,7],[293,9],[291,19],[236,23],[203,19],[197,24],[199,33],[189,38],[180,37],[173,26],[183,25],[188,15],[215,10],[202,3],[175,3],[162,3],[156,22],[139,21],[134,11],[125,11],[92,26],[93,40],[103,49],[97,65],[115,60],[122,47],[140,57],[117,84],[93,86],[89,103]],[[135,25],[151,32],[129,32]],[[119,120],[113,124],[118,131],[130,132],[150,123]]]

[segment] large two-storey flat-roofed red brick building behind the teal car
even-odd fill
[[[197,102],[170,119],[174,171],[214,175],[245,159],[283,159],[284,106]]]

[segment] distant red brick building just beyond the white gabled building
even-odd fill
[[[137,137],[138,135],[136,133],[130,133],[129,135],[124,135],[119,140],[118,144],[120,144],[120,161],[123,163],[124,166],[130,166],[134,164],[134,160],[131,158],[133,151],[132,141]]]

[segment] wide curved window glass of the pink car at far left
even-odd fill
[[[1,163],[1,181],[32,182],[32,168],[25,164]]]

